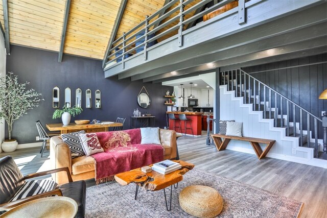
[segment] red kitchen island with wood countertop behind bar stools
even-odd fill
[[[193,134],[194,135],[201,135],[201,130],[202,130],[202,112],[177,112],[177,111],[172,111],[172,112],[166,112],[167,114],[172,113],[175,115],[176,118],[178,118],[178,114],[185,114],[186,118],[190,119],[188,123],[186,123],[187,127],[189,128],[191,122],[191,126],[193,129]],[[181,122],[181,131],[179,131],[179,119],[176,119],[176,132],[183,133],[184,134],[184,121]],[[169,129],[173,129],[174,126],[174,120],[169,119]],[[192,135],[191,129],[186,130],[186,134]]]

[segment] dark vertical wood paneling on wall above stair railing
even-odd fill
[[[269,70],[251,74],[279,93],[305,108],[312,114],[321,118],[321,111],[327,111],[327,100],[319,100],[319,94],[327,88],[327,64],[314,64],[310,66],[283,67],[306,65],[327,61],[327,54],[315,55],[306,58],[298,58],[280,61],[259,66],[246,67],[244,70],[251,72]],[[277,69],[277,70],[273,70]],[[286,106],[285,106],[286,107]],[[286,108],[284,108],[286,109]],[[284,111],[285,112],[285,111]],[[299,119],[297,111],[297,120]],[[303,116],[306,115],[303,113]],[[303,120],[303,129],[306,130],[307,121]],[[311,128],[313,120],[311,121]],[[321,123],[318,123],[319,138],[322,138]]]

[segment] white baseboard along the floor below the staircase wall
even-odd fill
[[[236,146],[228,146],[226,148],[227,150],[231,151],[237,151],[237,152],[243,152],[247,154],[253,154],[254,151],[252,149],[247,149],[247,148],[240,148]],[[279,160],[286,160],[290,162],[295,162],[295,163],[301,163],[301,164],[306,164],[306,165],[311,165],[311,166],[318,166],[322,168],[327,168],[327,161],[321,160],[321,159],[307,159],[307,158],[301,158],[301,157],[294,157],[294,156],[289,156],[289,155],[282,155],[282,154],[276,154],[276,153],[268,153],[266,157],[271,157]]]

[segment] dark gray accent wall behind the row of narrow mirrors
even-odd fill
[[[72,89],[72,105],[75,105],[75,90],[83,91],[83,112],[75,119],[115,120],[116,117],[126,117],[124,129],[130,128],[130,116],[138,108],[142,113],[156,116],[156,126],[163,128],[166,124],[165,91],[172,87],[160,84],[131,82],[130,79],[104,78],[102,61],[82,57],[64,55],[62,62],[58,62],[58,54],[54,52],[30,49],[21,46],[11,46],[11,55],[7,56],[7,72],[18,75],[21,83],[30,82],[29,87],[42,93],[44,101],[39,107],[29,110],[13,125],[12,137],[18,143],[36,142],[38,135],[35,122],[40,120],[43,126],[49,123],[61,123],[61,119],[52,119],[52,89],[60,88],[60,108],[64,104],[64,89]],[[145,86],[151,98],[151,105],[141,109],[136,97]],[[85,108],[85,90],[92,90],[92,108]],[[101,90],[101,109],[95,108],[95,91]],[[171,90],[172,91],[172,90]],[[6,128],[6,138],[8,137]]]

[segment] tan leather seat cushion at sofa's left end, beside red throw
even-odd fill
[[[81,173],[94,171],[95,162],[96,161],[94,158],[85,155],[72,159],[72,174],[78,175]]]

